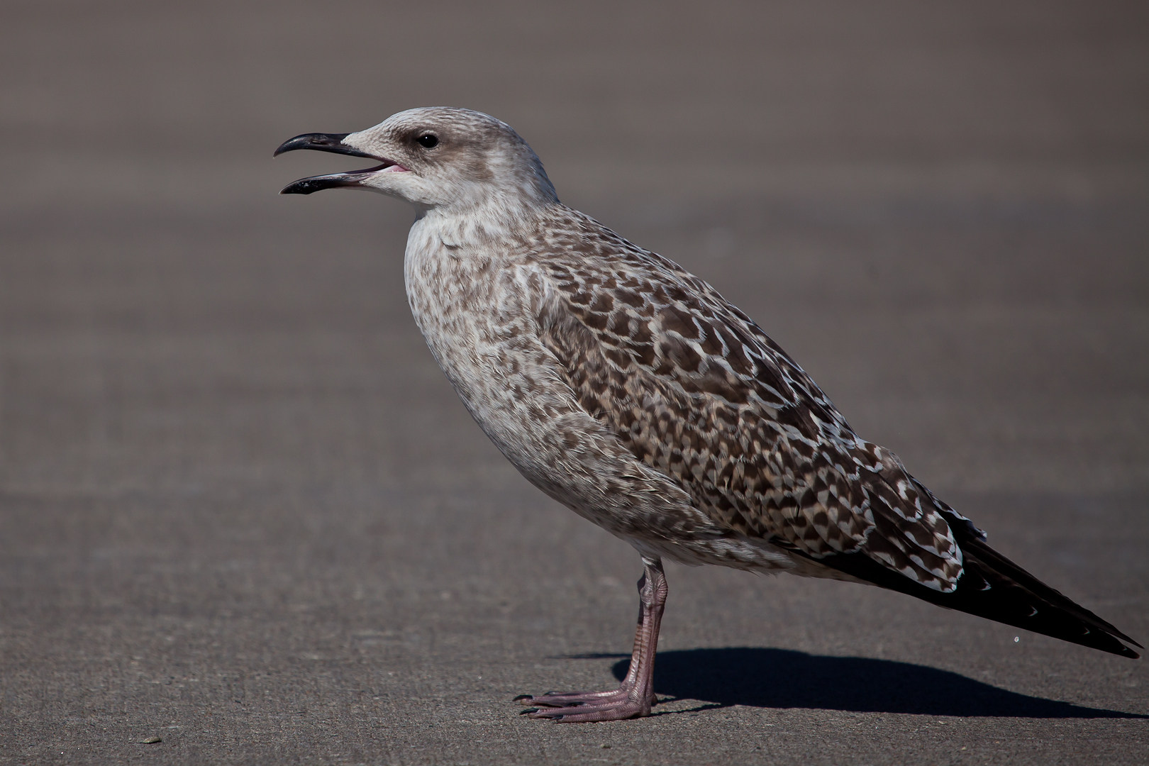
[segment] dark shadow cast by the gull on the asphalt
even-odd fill
[[[578,655],[615,658],[620,655]],[[622,680],[630,658],[611,671]],[[870,713],[1002,718],[1149,718],[1007,691],[924,665],[866,657],[826,657],[786,649],[689,649],[658,652],[654,689],[705,707],[808,707]]]

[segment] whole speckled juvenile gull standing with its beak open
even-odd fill
[[[1136,658],[1140,647],[986,544],[857,436],[820,388],[718,292],[563,206],[519,136],[466,109],[396,114],[318,149],[380,164],[303,178],[415,206],[415,320],[483,431],[545,493],[642,557],[618,689],[524,695],[532,718],[650,713],[662,559],[865,582]]]

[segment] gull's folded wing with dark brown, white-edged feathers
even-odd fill
[[[710,285],[591,219],[576,225],[564,247],[541,248],[554,300],[539,319],[588,413],[731,532],[813,559],[862,552],[933,590],[956,588],[948,506],[893,452],[858,439]]]

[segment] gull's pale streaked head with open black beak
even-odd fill
[[[302,178],[280,194],[362,188],[407,200],[421,211],[488,204],[514,210],[557,201],[526,141],[506,123],[470,109],[410,109],[357,133],[304,133],[285,141],[276,156],[295,149],[349,154],[380,164]]]

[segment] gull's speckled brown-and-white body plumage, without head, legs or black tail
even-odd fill
[[[863,552],[956,587],[967,521],[749,317],[557,202],[517,223],[464,242],[424,218],[406,272],[432,353],[527,479],[679,562],[840,578],[818,560]]]

